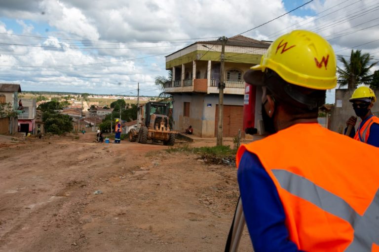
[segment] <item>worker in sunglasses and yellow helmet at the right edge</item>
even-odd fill
[[[371,112],[374,102],[377,101],[374,91],[368,87],[359,87],[354,91],[349,100],[353,104],[355,114],[362,119],[357,132],[355,132],[354,128],[357,118],[352,116],[347,120],[346,126],[351,125],[353,127],[350,137],[379,147],[379,118]],[[347,127],[345,128],[345,133],[346,131]]]

